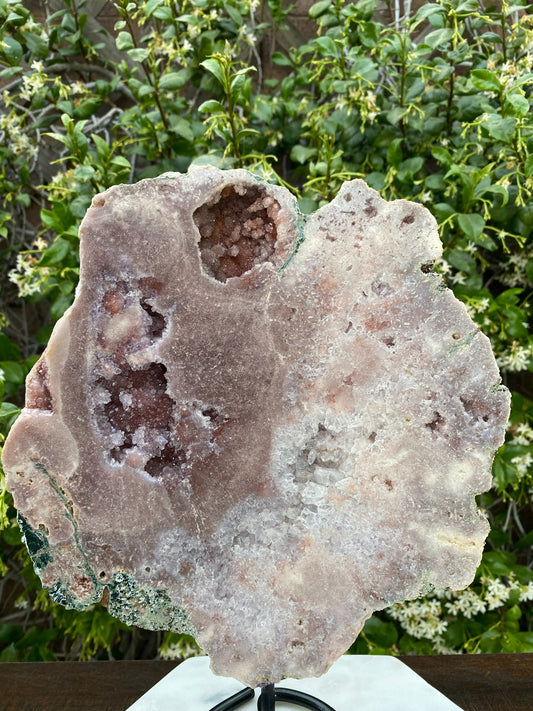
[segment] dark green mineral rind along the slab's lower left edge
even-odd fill
[[[47,588],[52,600],[69,609],[82,612],[92,604],[100,602],[104,587],[107,587],[109,591],[109,613],[121,622],[149,630],[186,632],[194,636],[194,630],[187,619],[186,612],[172,604],[172,600],[165,589],[140,587],[132,575],[124,572],[116,572],[110,583],[103,584],[97,579],[80,544],[78,525],[74,520],[73,511],[65,492],[40,462],[34,462],[34,465],[37,471],[47,477],[52,490],[64,504],[64,513],[72,525],[76,548],[84,561],[84,572],[94,586],[93,593],[89,599],[80,601],[72,592],[70,582],[63,583],[61,579],[58,579],[54,585]],[[44,526],[39,526],[38,530],[35,530],[20,513],[17,513],[17,522],[35,572],[41,577],[46,566],[54,560],[52,547],[48,541]]]

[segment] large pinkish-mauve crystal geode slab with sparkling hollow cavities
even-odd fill
[[[435,220],[360,180],[302,216],[242,170],[94,198],[8,488],[52,597],[192,632],[255,686],[480,561],[509,394]]]

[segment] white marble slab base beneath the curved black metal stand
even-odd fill
[[[461,711],[395,657],[343,656],[321,677],[284,679],[281,685],[311,694],[335,711]],[[240,691],[240,682],[209,670],[208,657],[194,657],[173,669],[128,711],[209,711]],[[258,696],[256,689],[255,698],[250,696],[238,711],[256,711]],[[276,703],[276,711],[297,710],[292,702]]]

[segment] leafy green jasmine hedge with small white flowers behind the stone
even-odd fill
[[[373,0],[321,1],[315,34],[287,51],[269,39],[290,20],[280,0],[114,6],[109,38],[89,31],[83,1],[39,22],[0,0],[0,438],[74,298],[96,193],[208,162],[286,185],[311,212],[363,178],[434,214],[436,268],[491,339],[513,401],[472,586],[375,615],[352,651],[533,651],[530,6],[438,0],[386,25]],[[136,633],[105,610],[40,591],[0,490],[0,660],[134,654]],[[195,651],[186,637],[158,644]]]

